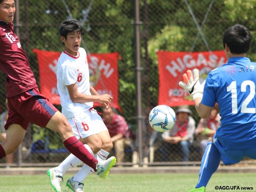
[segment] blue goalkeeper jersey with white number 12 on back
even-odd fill
[[[212,70],[204,86],[202,104],[218,103],[221,125],[214,140],[231,150],[256,148],[256,63],[232,57]]]

